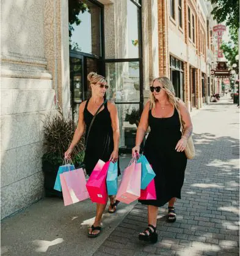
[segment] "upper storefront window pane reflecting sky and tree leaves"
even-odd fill
[[[101,8],[90,1],[69,0],[70,50],[101,56]]]

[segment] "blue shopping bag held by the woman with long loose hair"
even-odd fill
[[[147,158],[144,155],[140,155],[140,158],[137,160],[137,163],[142,164],[142,176],[141,176],[141,189],[146,189],[148,184],[156,176],[153,168],[149,164]]]

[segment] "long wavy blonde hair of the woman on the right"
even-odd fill
[[[178,98],[175,96],[175,90],[173,87],[172,82],[167,77],[157,77],[153,79],[153,82],[151,83],[151,86],[153,86],[153,83],[158,80],[159,86],[162,86],[162,90],[164,90],[167,93],[167,98],[174,107],[178,108]],[[150,92],[150,108],[155,108],[155,96],[152,92]]]

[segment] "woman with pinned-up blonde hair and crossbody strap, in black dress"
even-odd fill
[[[78,143],[84,130],[85,134],[89,130],[90,123],[98,108],[104,102],[104,94],[106,93],[107,85],[106,78],[97,73],[90,72],[87,76],[92,89],[92,96],[89,100],[82,102],[79,106],[78,127],[75,130],[73,141],[68,150],[65,152],[65,158],[69,158],[73,147]],[[96,115],[92,127],[90,128],[89,138],[85,149],[84,164],[85,170],[90,175],[99,159],[104,162],[108,160],[116,161],[118,159],[118,144],[119,144],[119,124],[117,116],[117,108],[114,103],[107,101]],[[118,175],[120,170],[118,167]],[[111,204],[109,213],[114,213],[117,208],[115,196],[109,196]],[[101,218],[106,205],[96,204],[95,222],[89,230],[89,237],[96,237],[101,232]]]

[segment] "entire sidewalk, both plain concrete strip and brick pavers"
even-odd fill
[[[192,121],[197,156],[187,164],[176,222],[165,222],[167,205],[159,209],[158,243],[139,243],[145,206],[120,203],[117,213],[106,211],[103,233],[90,239],[95,206],[89,200],[65,207],[58,198],[45,198],[2,221],[1,254],[239,255],[239,108],[221,98]]]

